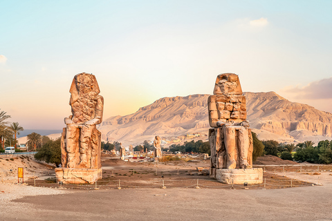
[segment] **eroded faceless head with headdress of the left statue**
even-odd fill
[[[71,102],[75,102],[78,97],[84,94],[93,94],[98,95],[100,93],[100,89],[98,86],[97,79],[95,79],[95,75],[88,73],[80,73],[75,75],[73,82],[71,83],[71,89],[69,90],[71,93]],[[94,96],[93,96],[94,97]]]

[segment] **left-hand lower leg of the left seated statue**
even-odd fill
[[[74,124],[68,124],[66,129],[66,152],[68,153],[67,165],[68,168],[75,168],[75,151],[77,150],[78,140],[76,139],[77,128]]]

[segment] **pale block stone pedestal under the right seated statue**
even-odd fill
[[[216,180],[223,184],[261,184],[263,169],[216,169]]]

